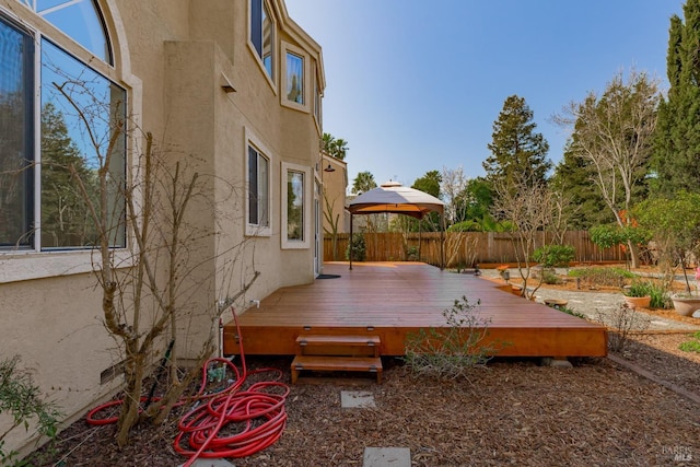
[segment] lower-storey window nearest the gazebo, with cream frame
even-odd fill
[[[311,168],[283,162],[282,174],[282,248],[308,248]]]

